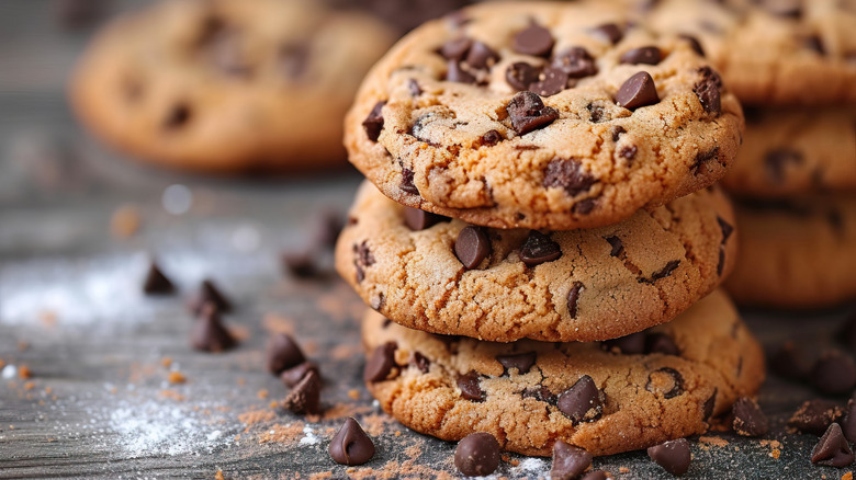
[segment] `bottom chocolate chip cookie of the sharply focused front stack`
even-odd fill
[[[761,345],[717,290],[674,321],[608,342],[484,342],[369,311],[365,380],[383,409],[447,441],[493,434],[549,456],[555,441],[611,455],[702,433],[764,379]]]

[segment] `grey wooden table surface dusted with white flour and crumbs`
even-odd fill
[[[58,28],[52,8],[0,3],[0,478],[454,475],[454,444],[401,426],[364,389],[357,296],[335,276],[299,281],[281,270],[281,253],[306,241],[315,213],[347,208],[356,172],[210,179],[121,158],[68,111],[64,79],[88,33]],[[117,212],[138,218],[134,235],[111,229]],[[142,294],[150,258],[179,295]],[[225,319],[241,342],[226,354],[188,345],[185,302],[206,277],[236,304]],[[767,345],[824,345],[844,315],[746,317]],[[266,339],[278,330],[292,331],[320,365],[323,415],[270,407],[286,393],[263,368]],[[187,382],[170,384],[172,370]],[[809,398],[802,386],[768,379],[761,403],[771,433],[692,442],[687,478],[841,478],[846,469],[809,462],[815,437],[784,428]],[[378,446],[362,467],[326,453],[348,415]],[[497,473],[539,478],[549,466],[510,455]],[[595,466],[620,479],[669,478],[644,453]]]

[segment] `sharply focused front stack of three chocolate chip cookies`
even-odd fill
[[[488,3],[402,39],[346,121],[370,182],[336,250],[383,409],[607,455],[752,396],[763,355],[717,290],[736,232],[711,187],[742,129],[697,43],[626,9]]]

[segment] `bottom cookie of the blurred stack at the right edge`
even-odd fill
[[[736,302],[810,309],[856,298],[856,195],[735,209],[740,253],[725,285]]]

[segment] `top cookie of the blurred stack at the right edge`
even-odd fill
[[[631,0],[643,22],[697,38],[743,103],[856,103],[854,0]]]

